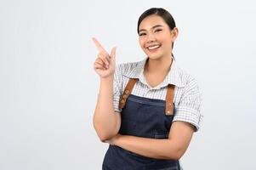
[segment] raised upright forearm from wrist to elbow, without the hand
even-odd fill
[[[94,128],[101,140],[111,138],[117,132],[113,106],[113,77],[100,79],[100,93],[94,112]]]

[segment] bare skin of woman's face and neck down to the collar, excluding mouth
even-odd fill
[[[145,65],[145,78],[151,87],[155,87],[167,76],[172,63],[172,43],[178,36],[178,29],[170,31],[168,25],[158,15],[146,17],[139,25],[139,45],[149,57]],[[147,47],[161,45],[156,51]]]

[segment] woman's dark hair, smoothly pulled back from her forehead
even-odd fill
[[[156,15],[162,17],[162,20],[164,20],[167,23],[167,25],[169,26],[170,31],[172,31],[174,29],[174,27],[176,27],[173,16],[167,10],[165,10],[164,8],[149,8],[143,14],[141,14],[139,16],[139,20],[138,20],[138,24],[137,24],[137,33],[138,34],[139,34],[139,25],[140,25],[141,21],[144,20],[145,17],[152,15],[152,14],[156,14]],[[174,48],[174,42],[172,44],[172,48]]]

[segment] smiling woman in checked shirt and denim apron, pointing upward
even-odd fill
[[[175,64],[178,37],[171,14],[150,8],[138,20],[146,58],[115,67],[116,48],[99,49],[94,70],[100,94],[94,128],[109,143],[103,169],[180,169],[179,158],[199,128],[201,95],[195,78]]]

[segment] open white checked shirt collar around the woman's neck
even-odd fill
[[[142,83],[146,84],[148,87],[150,87],[147,84],[147,82],[145,80],[144,73],[143,73],[147,59],[148,59],[148,57],[139,61],[137,63],[137,65],[135,65],[131,71],[128,71],[127,73],[125,73],[124,76],[126,76],[128,78],[138,78],[140,82],[142,82]],[[161,82],[159,85],[157,85],[156,87],[154,87],[152,89],[159,89],[162,87],[166,87],[166,86],[168,86],[168,84],[174,84],[175,86],[177,86],[179,88],[184,87],[185,83],[182,82],[181,74],[182,74],[182,71],[180,71],[179,67],[175,63],[175,60],[173,59],[171,69],[168,72],[167,77],[165,77],[163,82]]]

